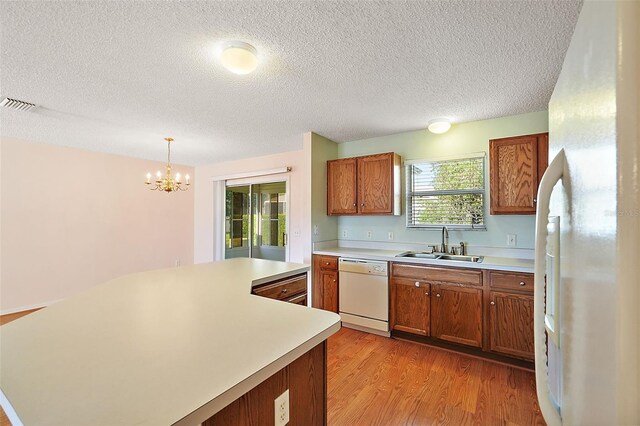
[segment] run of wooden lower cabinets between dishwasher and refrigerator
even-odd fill
[[[394,262],[389,286],[392,335],[533,367],[533,274]]]

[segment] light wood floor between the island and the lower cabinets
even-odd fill
[[[532,372],[342,328],[328,340],[334,425],[544,425]]]

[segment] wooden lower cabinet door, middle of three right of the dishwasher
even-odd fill
[[[482,289],[431,284],[431,336],[482,347]]]

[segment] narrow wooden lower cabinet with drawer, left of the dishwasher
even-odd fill
[[[313,256],[312,306],[338,313],[338,258]]]

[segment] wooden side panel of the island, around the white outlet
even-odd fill
[[[278,371],[202,423],[203,426],[269,425],[275,399],[289,389],[289,424],[326,424],[326,342]]]

